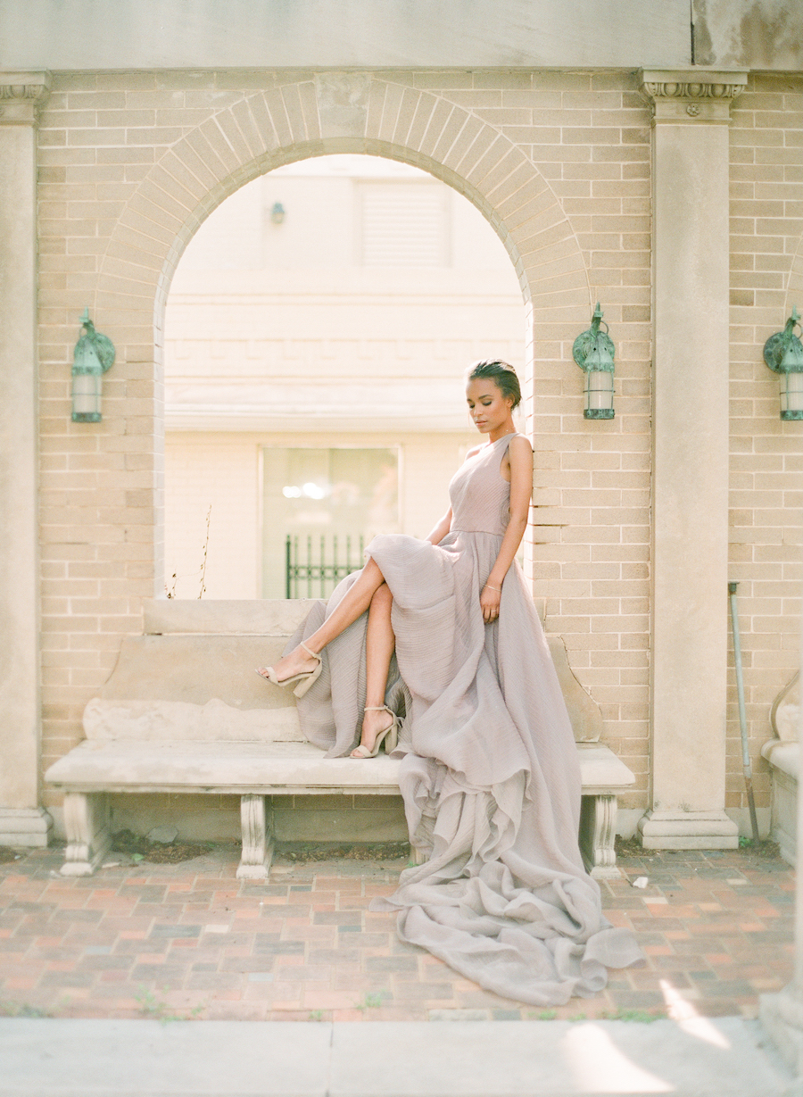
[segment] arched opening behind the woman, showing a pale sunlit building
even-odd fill
[[[524,361],[483,214],[397,160],[297,160],[226,199],[165,324],[170,597],[320,597],[378,531],[426,536],[473,441],[463,374]]]

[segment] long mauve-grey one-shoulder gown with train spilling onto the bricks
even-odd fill
[[[516,562],[498,619],[483,620],[480,590],[509,520],[500,465],[511,437],[483,446],[453,477],[453,519],[440,544],[387,534],[366,548],[393,593],[386,701],[404,712],[399,784],[411,844],[428,857],[373,909],[397,911],[402,940],[480,986],[551,1006],[599,993],[608,968],[643,955],[629,930],[606,919],[583,866],[572,725]],[[355,577],[313,608],[287,651]],[[359,742],[366,618],[324,648],[320,678],[298,701],[302,728],[330,757]]]

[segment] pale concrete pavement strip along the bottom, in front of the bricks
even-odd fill
[[[781,1097],[757,1021],[0,1020],[0,1097]]]

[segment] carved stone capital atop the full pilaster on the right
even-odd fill
[[[653,121],[730,122],[731,103],[747,84],[746,72],[642,69],[642,94],[653,106]]]

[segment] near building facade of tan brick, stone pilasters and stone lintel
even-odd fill
[[[0,840],[58,824],[42,773],[165,593],[179,260],[244,184],[343,154],[422,169],[507,249],[527,570],[637,774],[625,817],[657,847],[744,825],[733,580],[766,818],[758,750],[800,649],[803,423],[761,354],[803,305],[798,7],[694,0],[693,33],[675,0],[423,8],[122,0],[88,36],[55,0],[0,5]],[[597,301],[612,420],[584,418],[572,359]],[[117,352],[99,423],[70,418],[87,306]]]

